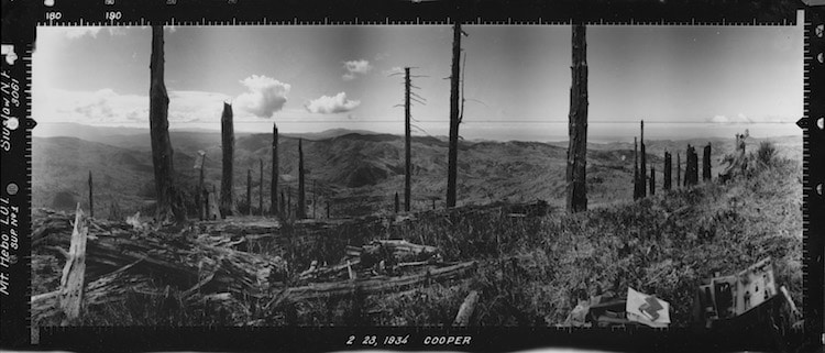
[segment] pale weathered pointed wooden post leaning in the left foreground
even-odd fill
[[[66,315],[63,326],[75,324],[82,315],[84,282],[86,276],[86,240],[89,228],[80,205],[75,211],[75,228],[72,231],[68,258],[61,277],[61,309]]]

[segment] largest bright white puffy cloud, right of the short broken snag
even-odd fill
[[[241,84],[248,91],[238,96],[235,104],[258,118],[272,118],[283,109],[290,89],[289,84],[257,75],[246,77]]]

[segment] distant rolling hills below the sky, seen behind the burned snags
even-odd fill
[[[95,141],[59,136],[34,139],[34,206],[72,209],[75,202],[80,201],[88,207],[86,180],[89,170],[92,170],[95,178],[97,214],[106,214],[109,203],[114,200],[130,213],[150,206],[154,191],[148,135],[113,135],[110,132],[87,133],[84,137]],[[272,134],[238,134],[235,137],[235,198],[245,200],[246,170],[251,169],[253,206],[257,205],[258,161],[263,159],[264,203],[268,208]],[[305,137],[320,137],[305,141],[308,198],[312,198],[315,180],[319,203],[326,207],[329,200],[333,217],[389,212],[395,192],[403,197],[402,136],[337,130]],[[193,190],[197,183],[198,169],[195,166],[198,151],[207,153],[207,183],[220,186],[219,133],[173,131],[170,140],[175,148],[175,169],[185,190]],[[714,175],[719,170],[723,155],[733,150],[730,140],[711,141],[714,146]],[[779,147],[780,155],[801,158],[800,139],[772,141]],[[688,143],[702,146],[706,142],[647,142],[648,163],[657,169],[659,188],[663,178],[663,151],[681,152],[684,163]],[[751,137],[748,143],[750,148],[755,148],[758,140]],[[282,189],[288,188],[293,192],[297,190],[297,137],[293,135],[282,135],[279,139],[279,183],[284,186]],[[459,205],[535,199],[562,205],[566,156],[566,147],[562,145],[516,141],[463,142],[459,154]],[[587,162],[591,206],[612,205],[631,197],[632,144],[591,144]],[[415,136],[413,164],[413,208],[428,209],[432,199],[436,199],[438,207],[442,207],[447,143],[436,137]],[[320,212],[323,207],[319,208],[318,213],[324,213]]]

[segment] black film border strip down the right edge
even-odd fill
[[[803,129],[803,300],[805,330],[825,344],[823,249],[825,249],[825,7],[806,9]],[[811,342],[814,343],[814,342]]]

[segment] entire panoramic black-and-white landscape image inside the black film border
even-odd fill
[[[781,340],[799,22],[38,26],[32,324]]]

